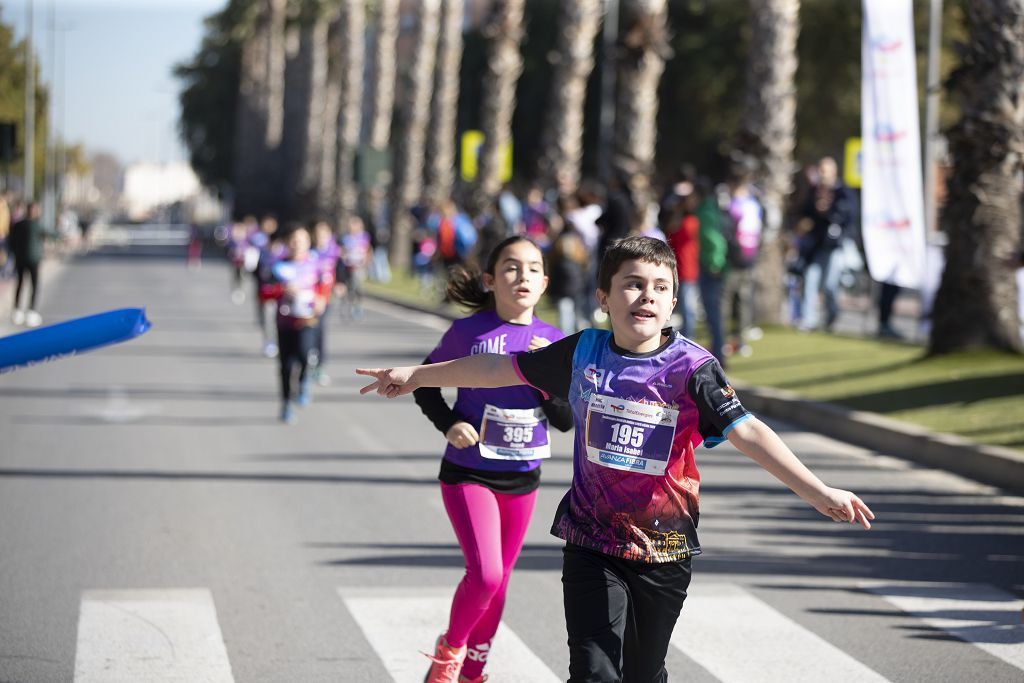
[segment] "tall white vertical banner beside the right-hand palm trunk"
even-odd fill
[[[925,208],[912,0],[864,0],[861,221],[878,282],[920,289]]]

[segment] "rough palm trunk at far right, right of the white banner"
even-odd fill
[[[942,220],[946,265],[931,353],[1022,351],[1017,285],[1024,150],[1024,0],[967,3],[970,40],[950,76],[963,118],[948,131],[952,177]]]

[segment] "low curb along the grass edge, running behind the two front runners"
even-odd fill
[[[376,292],[367,292],[367,296],[449,321],[459,317]],[[763,417],[791,422],[830,438],[1024,494],[1024,454],[1012,449],[975,443],[877,413],[808,400],[780,389],[741,382],[733,384],[748,410]]]

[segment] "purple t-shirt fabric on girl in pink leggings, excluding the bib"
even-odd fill
[[[526,351],[529,349],[529,340],[535,336],[554,342],[565,335],[558,328],[537,317],[529,325],[515,325],[506,323],[494,310],[482,310],[454,322],[436,348],[427,356],[427,360],[441,362],[477,353],[511,354]],[[496,389],[463,387],[459,389],[453,411],[460,420],[473,425],[479,432],[486,405],[499,409],[537,409],[543,400],[541,392],[530,386]],[[537,433],[536,437],[539,439],[545,435]],[[537,469],[541,464],[540,460],[484,458],[478,445],[457,449],[451,443],[444,451],[444,459],[461,467],[493,472],[526,472]]]

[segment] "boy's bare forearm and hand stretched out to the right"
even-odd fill
[[[775,431],[755,417],[729,431],[729,442],[784,483],[808,505],[838,522],[859,522],[871,528],[874,513],[854,494],[826,486],[807,469]]]

